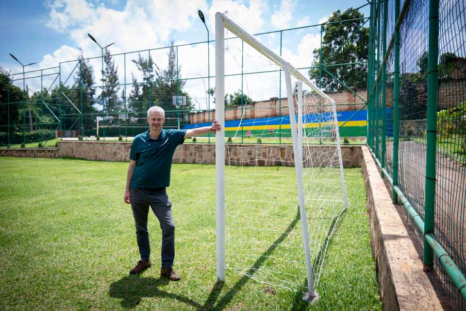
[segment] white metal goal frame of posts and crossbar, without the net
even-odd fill
[[[288,104],[291,136],[293,140],[293,153],[295,155],[295,171],[298,185],[298,203],[300,208],[300,220],[302,227],[302,240],[303,250],[306,260],[306,275],[307,275],[307,289],[308,297],[306,300],[312,301],[316,296],[314,283],[313,283],[313,267],[311,262],[309,238],[308,238],[308,224],[306,217],[305,208],[305,197],[303,193],[303,151],[302,151],[302,129],[303,129],[303,118],[302,118],[302,83],[309,86],[319,96],[325,98],[328,102],[332,103],[333,106],[333,121],[334,130],[336,132],[336,148],[338,150],[338,159],[340,164],[340,174],[344,198],[345,208],[348,206],[345,179],[342,165],[342,155],[340,140],[338,135],[338,121],[336,117],[336,107],[334,101],[328,97],[322,90],[316,87],[308,78],[300,73],[296,68],[286,62],[281,56],[267,48],[255,37],[250,35],[245,29],[239,26],[230,18],[226,17],[222,13],[217,12],[215,18],[215,40],[216,40],[216,87],[215,87],[215,119],[222,126],[221,131],[216,132],[216,274],[217,279],[225,280],[225,35],[224,30],[232,32],[238,36],[245,43],[249,44],[252,48],[263,54],[266,58],[271,60],[276,65],[280,66],[284,70],[285,82],[286,82],[286,93],[288,103],[294,102],[293,97],[293,86],[291,82],[291,76],[295,77],[298,82],[298,118],[296,119],[296,112],[294,104]],[[298,122],[296,122],[298,120]],[[297,124],[298,123],[298,124]],[[298,131],[296,130],[298,129]],[[301,160],[297,160],[301,159]]]

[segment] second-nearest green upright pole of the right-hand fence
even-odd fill
[[[399,17],[399,0],[395,0],[395,20]],[[398,148],[399,148],[399,29],[395,26],[395,70],[393,82],[393,186],[398,187]],[[398,203],[395,187],[392,188],[392,202]]]

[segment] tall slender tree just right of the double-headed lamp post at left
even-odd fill
[[[110,54],[110,50],[105,48],[103,54],[103,61],[105,63],[105,69],[102,71],[102,79],[105,87],[99,95],[99,99],[104,99],[106,105],[106,113],[120,112],[122,109],[122,102],[118,98],[118,68],[115,66],[115,61]]]

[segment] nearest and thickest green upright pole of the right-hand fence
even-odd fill
[[[427,151],[425,191],[425,234],[434,233],[435,160],[437,135],[437,66],[438,66],[438,0],[429,0],[429,47],[427,63]],[[433,249],[424,237],[424,268],[432,270]]]

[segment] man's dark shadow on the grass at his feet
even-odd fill
[[[161,297],[177,299],[185,304],[191,305],[197,309],[202,306],[189,298],[178,294],[171,294],[162,291],[157,287],[168,284],[169,280],[165,277],[141,277],[138,275],[128,275],[122,279],[110,284],[110,297],[120,298],[121,306],[125,309],[134,308],[139,304],[143,297]]]

